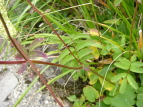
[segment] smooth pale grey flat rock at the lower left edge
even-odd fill
[[[18,80],[13,73],[4,71],[0,74],[0,104],[6,100],[17,84]]]

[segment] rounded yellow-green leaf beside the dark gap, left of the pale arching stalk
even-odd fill
[[[83,93],[86,99],[90,102],[95,102],[99,98],[99,92],[92,86],[86,86],[83,88]]]

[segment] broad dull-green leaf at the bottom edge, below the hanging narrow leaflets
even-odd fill
[[[124,94],[117,94],[111,99],[112,107],[133,107],[135,104],[135,90],[127,85]]]

